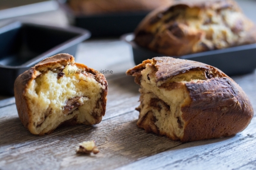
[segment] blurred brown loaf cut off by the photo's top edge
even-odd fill
[[[151,11],[168,6],[172,0],[69,0],[68,4],[77,14],[105,14],[111,12]]]

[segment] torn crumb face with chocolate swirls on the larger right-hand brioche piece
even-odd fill
[[[141,71],[141,74],[140,118],[152,111],[156,118],[155,125],[160,130],[161,135],[169,136],[172,139],[181,138],[184,121],[180,108],[191,102],[189,93],[185,88],[185,82],[205,80],[205,72],[189,71],[172,77],[165,83],[179,82],[179,86],[170,89],[159,87],[163,82],[156,83],[155,69],[151,69],[148,65]],[[165,107],[165,105],[169,107]]]

